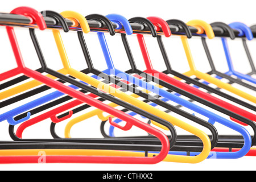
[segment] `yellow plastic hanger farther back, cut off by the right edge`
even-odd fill
[[[203,20],[191,20],[187,23],[187,25],[195,26],[196,28],[198,28],[199,29],[198,33],[205,32],[209,39],[214,38],[214,32],[212,30],[212,27],[210,26],[210,24],[204,22]],[[190,68],[190,71],[183,73],[184,75],[189,76],[189,77],[196,76],[200,79],[203,79],[207,82],[210,82],[211,84],[218,86],[218,88],[228,90],[229,92],[232,92],[232,93],[236,94],[237,96],[240,96],[242,98],[245,98],[248,101],[256,103],[255,96],[252,96],[246,92],[243,92],[240,89],[234,88],[232,85],[226,84],[225,82],[222,82],[221,80],[218,80],[217,78],[212,77],[212,76],[208,75],[207,73],[198,71],[196,69],[196,65],[193,60],[193,56],[192,56],[191,49],[188,44],[187,36],[180,36],[180,37],[181,37],[181,42],[183,43],[183,47],[184,47],[185,54],[187,56],[187,60],[188,60],[188,64],[189,64],[189,68]]]

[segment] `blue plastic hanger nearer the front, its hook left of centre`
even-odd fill
[[[118,23],[119,29],[122,28],[121,25],[123,25],[123,27],[125,27],[125,30],[127,31],[127,35],[133,34],[129,21],[123,18],[123,16],[117,15],[117,14],[110,14],[110,15],[107,15],[106,17],[109,18],[111,21]],[[130,27],[130,28],[127,28],[127,27]],[[241,158],[242,156],[247,154],[247,152],[250,150],[250,147],[251,147],[251,136],[244,127],[241,127],[237,123],[231,122],[228,119],[222,118],[219,115],[214,114],[200,106],[192,104],[191,102],[184,100],[183,98],[177,97],[174,94],[167,92],[166,90],[156,88],[156,86],[154,85],[148,84],[147,82],[140,80],[139,78],[133,77],[125,72],[119,71],[118,69],[114,68],[114,64],[112,61],[112,57],[110,55],[108,44],[106,43],[105,35],[103,32],[98,32],[97,34],[98,34],[98,39],[100,40],[102,51],[104,53],[104,57],[106,59],[106,63],[108,65],[108,69],[103,71],[104,73],[108,75],[118,76],[119,78],[129,81],[135,85],[139,84],[138,86],[141,86],[141,88],[147,89],[152,93],[156,93],[159,96],[164,97],[166,100],[174,101],[177,104],[180,104],[184,107],[187,107],[188,109],[191,109],[199,114],[202,114],[210,118],[209,119],[210,123],[212,124],[214,124],[215,122],[221,123],[222,125],[227,126],[230,129],[238,131],[239,133],[242,134],[243,137],[245,137],[245,140],[247,140],[247,142],[245,142],[243,148],[239,152],[218,152],[217,158],[219,159]],[[156,90],[157,92],[155,92]],[[130,113],[130,114],[134,114],[134,113]]]

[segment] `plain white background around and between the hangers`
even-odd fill
[[[164,20],[168,19],[180,19],[184,22],[188,22],[192,19],[202,19],[205,22],[243,22],[248,26],[256,24],[255,20],[255,1],[6,1],[5,5],[1,6],[1,10],[3,13],[8,13],[11,10],[15,9],[19,6],[30,6],[38,11],[43,10],[53,10],[57,12],[72,10],[81,13],[82,15],[89,14],[102,14],[107,15],[111,13],[117,13],[125,16],[127,19],[133,18],[134,16],[159,16]],[[28,30],[26,28],[17,28],[16,35],[18,36],[18,40],[20,43],[20,48],[23,53],[24,61],[27,67],[30,68],[39,68],[39,61],[36,57],[34,48],[32,46]],[[4,63],[8,61],[8,64],[4,64],[5,67],[0,68],[0,73],[7,71],[11,68],[15,68],[15,60],[11,53],[10,45],[8,43],[8,39],[6,36],[5,28],[0,28],[1,31],[1,50],[3,52],[1,54],[2,61],[5,60]],[[53,42],[53,36],[50,31],[44,31],[38,33],[38,39],[41,43],[42,49],[45,53],[46,60],[48,60],[49,67],[54,68],[56,70],[62,68],[60,63],[60,57],[57,53],[56,46]],[[82,56],[81,49],[79,48],[79,42],[75,33],[63,34],[63,39],[65,43],[65,47],[68,52],[69,60],[71,61],[71,65],[73,68],[81,70],[81,68],[86,68],[86,64],[84,61],[84,57]],[[164,70],[163,59],[160,55],[159,48],[157,47],[156,40],[152,39],[150,36],[145,36],[146,42],[148,43],[148,51],[150,52],[152,63],[155,68],[159,71]],[[100,45],[97,41],[97,36],[94,33],[89,33],[85,35],[86,43],[88,44],[89,51],[91,53],[92,59],[94,60],[94,66],[100,70],[106,69],[106,64],[104,61],[104,57],[101,52]],[[112,53],[114,65],[116,68],[121,69],[122,71],[126,71],[129,69],[129,62],[127,61],[127,57],[125,54],[125,50],[122,47],[121,38],[119,35],[115,35],[110,37],[106,35],[106,39],[108,40],[110,51]],[[134,53],[134,58],[137,63],[139,69],[144,69],[144,64],[142,61],[142,55],[139,51],[138,43],[136,42],[135,36],[129,37],[129,42],[131,49]],[[188,71],[187,60],[184,55],[183,48],[181,46],[180,39],[176,36],[172,36],[172,38],[164,39],[164,43],[167,46],[168,55],[172,60],[172,67],[180,72]],[[205,62],[207,57],[203,52],[203,48],[201,46],[200,39],[195,38],[193,40],[189,40],[191,45],[193,57],[197,64],[197,68],[200,71],[208,72],[209,65]],[[212,56],[216,61],[217,68],[221,71],[226,71],[226,62],[223,49],[221,47],[220,39],[216,38],[214,40],[208,41],[210,51],[212,51]],[[247,73],[250,71],[249,65],[246,60],[245,53],[242,49],[241,40],[233,41],[233,44],[230,43],[230,51],[233,53],[232,58],[235,63],[235,67],[239,69],[243,73]],[[255,40],[249,43],[251,53],[253,57],[256,59],[256,54],[254,53],[254,48],[256,48]],[[255,55],[255,56],[254,56]],[[175,61],[177,60],[177,61]],[[241,61],[245,60],[245,61]],[[201,62],[200,62],[201,61]],[[161,70],[162,69],[162,70]],[[238,85],[237,88],[241,88]],[[245,89],[245,88],[241,88]],[[51,92],[53,91],[50,90]],[[246,90],[250,94],[255,96],[255,92],[251,92],[251,90]],[[50,93],[50,92],[49,92]],[[230,93],[231,94],[231,93]],[[37,97],[30,98],[32,101]],[[242,99],[242,98],[241,98]],[[15,106],[11,105],[9,107],[5,107],[5,109],[1,110],[1,113],[5,113],[8,109],[14,108],[16,106],[24,104],[23,102],[16,103]],[[183,108],[184,109],[184,108]],[[209,108],[208,108],[209,109]],[[184,109],[185,110],[185,109]],[[210,109],[209,109],[210,110]],[[192,113],[192,111],[187,110]],[[217,112],[216,112],[217,113]],[[220,114],[220,113],[218,113]],[[255,112],[254,112],[255,114]],[[173,114],[175,117],[179,117]],[[221,114],[220,114],[221,115]],[[79,116],[79,115],[76,115]],[[74,117],[76,117],[74,116]],[[204,118],[201,115],[197,115],[199,117]],[[223,117],[228,118],[226,115]],[[142,121],[142,118],[138,117]],[[184,121],[186,121],[184,119]],[[60,123],[57,127],[58,134],[61,137],[64,137],[64,127],[68,121],[64,121]],[[187,121],[189,122],[189,121]],[[32,126],[24,131],[23,138],[51,138],[49,134],[49,123],[50,121],[45,121],[39,123],[35,126]],[[100,134],[100,121],[98,118],[94,117],[89,119],[86,122],[81,122],[75,125],[71,131],[72,137],[74,138],[97,138],[101,137]],[[7,122],[0,123],[0,132],[2,140],[9,140],[9,134],[7,130]],[[200,126],[198,126],[200,127]],[[227,129],[224,126],[216,124],[218,132],[220,134],[237,134],[232,130]],[[15,127],[16,128],[16,127]],[[200,128],[201,129],[201,128]],[[204,130],[204,129],[202,129]],[[250,129],[248,129],[250,131]],[[186,134],[185,131],[177,129],[178,134]],[[133,129],[130,133],[134,134],[141,132]],[[209,131],[205,131],[205,133],[209,133]],[[123,132],[116,130],[116,135],[122,135]],[[141,132],[140,134],[144,134]],[[205,160],[199,164],[179,164],[179,163],[168,163],[162,162],[155,165],[116,165],[116,164],[8,164],[8,165],[0,165],[1,170],[8,169],[22,169],[22,170],[49,170],[49,169],[57,169],[57,170],[254,170],[256,162],[255,157],[245,156],[241,159],[214,159],[214,160]]]

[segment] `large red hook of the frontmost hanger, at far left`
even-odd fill
[[[40,30],[46,30],[46,21],[43,18],[43,15],[36,11],[35,9],[32,9],[31,7],[27,6],[21,6],[17,7],[13,11],[11,11],[11,14],[19,14],[27,16],[31,19],[30,24],[37,24]]]

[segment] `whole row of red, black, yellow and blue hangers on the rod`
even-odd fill
[[[209,158],[238,159],[256,154],[253,148],[256,144],[254,114],[256,96],[233,86],[238,84],[253,93],[256,91],[256,79],[253,77],[256,69],[246,44],[247,40],[254,38],[253,27],[247,27],[240,22],[228,25],[222,22],[208,24],[203,20],[191,20],[188,23],[177,19],[165,21],[156,16],[127,20],[117,14],[107,16],[92,14],[84,17],[74,11],[64,11],[60,14],[55,11],[39,13],[30,7],[18,7],[10,14],[0,14],[0,20],[1,25],[6,28],[18,65],[15,69],[0,74],[1,110],[13,105],[13,109],[0,114],[0,122],[7,121],[10,124],[9,134],[13,139],[13,141],[0,142],[0,163],[38,163],[38,154],[42,150],[47,154],[47,163],[155,164],[162,161],[200,163]],[[29,29],[41,68],[32,70],[24,64],[14,27]],[[36,36],[36,29],[52,31],[63,69],[56,71],[47,66]],[[84,54],[81,59],[85,59],[88,68],[79,71],[71,67],[61,38],[62,30],[65,33],[77,32],[79,46]],[[84,34],[89,34],[90,31],[96,32],[100,40],[108,65],[105,71],[98,70],[90,57],[84,38]],[[127,54],[125,56],[128,57],[131,65],[131,69],[126,72],[114,66],[105,38],[105,34],[108,33],[112,36],[121,34]],[[160,72],[153,67],[145,34],[150,34],[157,40],[166,71]],[[169,38],[172,34],[180,36],[190,68],[188,72],[180,73],[171,67],[162,37]],[[138,69],[135,63],[127,40],[127,36],[130,35],[137,36],[146,65],[144,71]],[[216,35],[221,36],[228,61],[229,72],[226,73],[217,71],[206,41]],[[212,71],[204,73],[197,70],[188,43],[188,39],[193,36],[201,37]],[[228,38],[242,39],[252,72],[245,75],[234,69]],[[29,78],[32,78],[32,81]],[[222,78],[229,82],[222,81]],[[210,84],[216,85],[217,88]],[[37,96],[52,88],[56,91],[15,107],[16,102]],[[132,94],[128,94],[127,91]],[[104,101],[110,101],[110,104],[105,104]],[[216,112],[205,109],[206,107],[199,106],[195,102]],[[122,109],[117,109],[118,106]],[[156,106],[161,106],[164,110]],[[89,107],[96,109],[86,112]],[[181,107],[198,114],[191,114]],[[105,116],[104,113],[109,115]],[[184,122],[183,119],[174,117],[172,113],[197,123],[211,134],[207,135],[201,129]],[[228,119],[216,113],[222,113],[228,116]],[[80,115],[72,118],[75,114]],[[141,115],[141,120],[146,119],[148,123],[137,119],[136,115]],[[208,119],[202,119],[199,115]],[[71,137],[71,129],[74,125],[95,116],[102,121],[100,132],[104,138]],[[57,123],[70,118],[72,119],[65,127],[65,138],[59,137],[56,133]],[[52,121],[50,127],[52,139],[22,138],[25,129],[46,119]],[[111,126],[109,133],[106,133],[104,129],[108,122]],[[125,125],[121,125],[121,122],[125,122]],[[240,135],[219,135],[215,123]],[[18,126],[16,131],[15,126]],[[148,135],[115,137],[115,129],[129,131],[132,127],[138,127]],[[178,135],[176,127],[191,135]],[[250,134],[246,127],[250,127],[253,133]],[[168,134],[165,131],[168,131]]]

